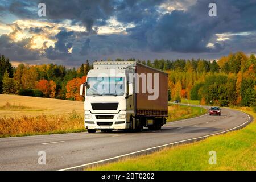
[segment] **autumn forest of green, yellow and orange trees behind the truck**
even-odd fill
[[[255,106],[254,55],[236,52],[217,61],[119,58],[114,61],[138,61],[167,72],[169,100],[187,98],[200,100],[202,105]],[[85,82],[92,68],[88,60],[78,69],[57,64],[19,64],[13,67],[8,58],[0,55],[0,93],[82,101],[80,84]]]

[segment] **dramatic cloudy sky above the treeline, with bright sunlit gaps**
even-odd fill
[[[0,54],[13,63],[213,60],[237,51],[256,53],[256,0],[0,1]]]

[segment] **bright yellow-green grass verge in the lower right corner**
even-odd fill
[[[241,108],[256,118],[250,108]],[[166,148],[150,155],[120,160],[89,170],[256,170],[256,121],[241,130],[209,137],[200,142]],[[217,164],[209,164],[216,151]]]

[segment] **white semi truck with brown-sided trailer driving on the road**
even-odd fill
[[[138,62],[94,62],[80,86],[88,133],[161,129],[168,117],[167,81],[167,73]]]

